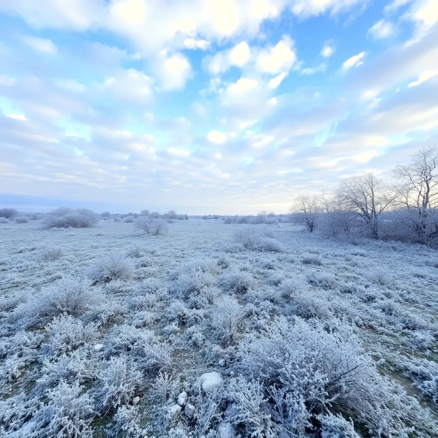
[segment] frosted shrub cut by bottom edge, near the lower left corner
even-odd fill
[[[48,403],[42,404],[32,417],[35,438],[69,437],[91,438],[90,424],[96,415],[93,400],[76,382],[61,383],[46,394]]]

